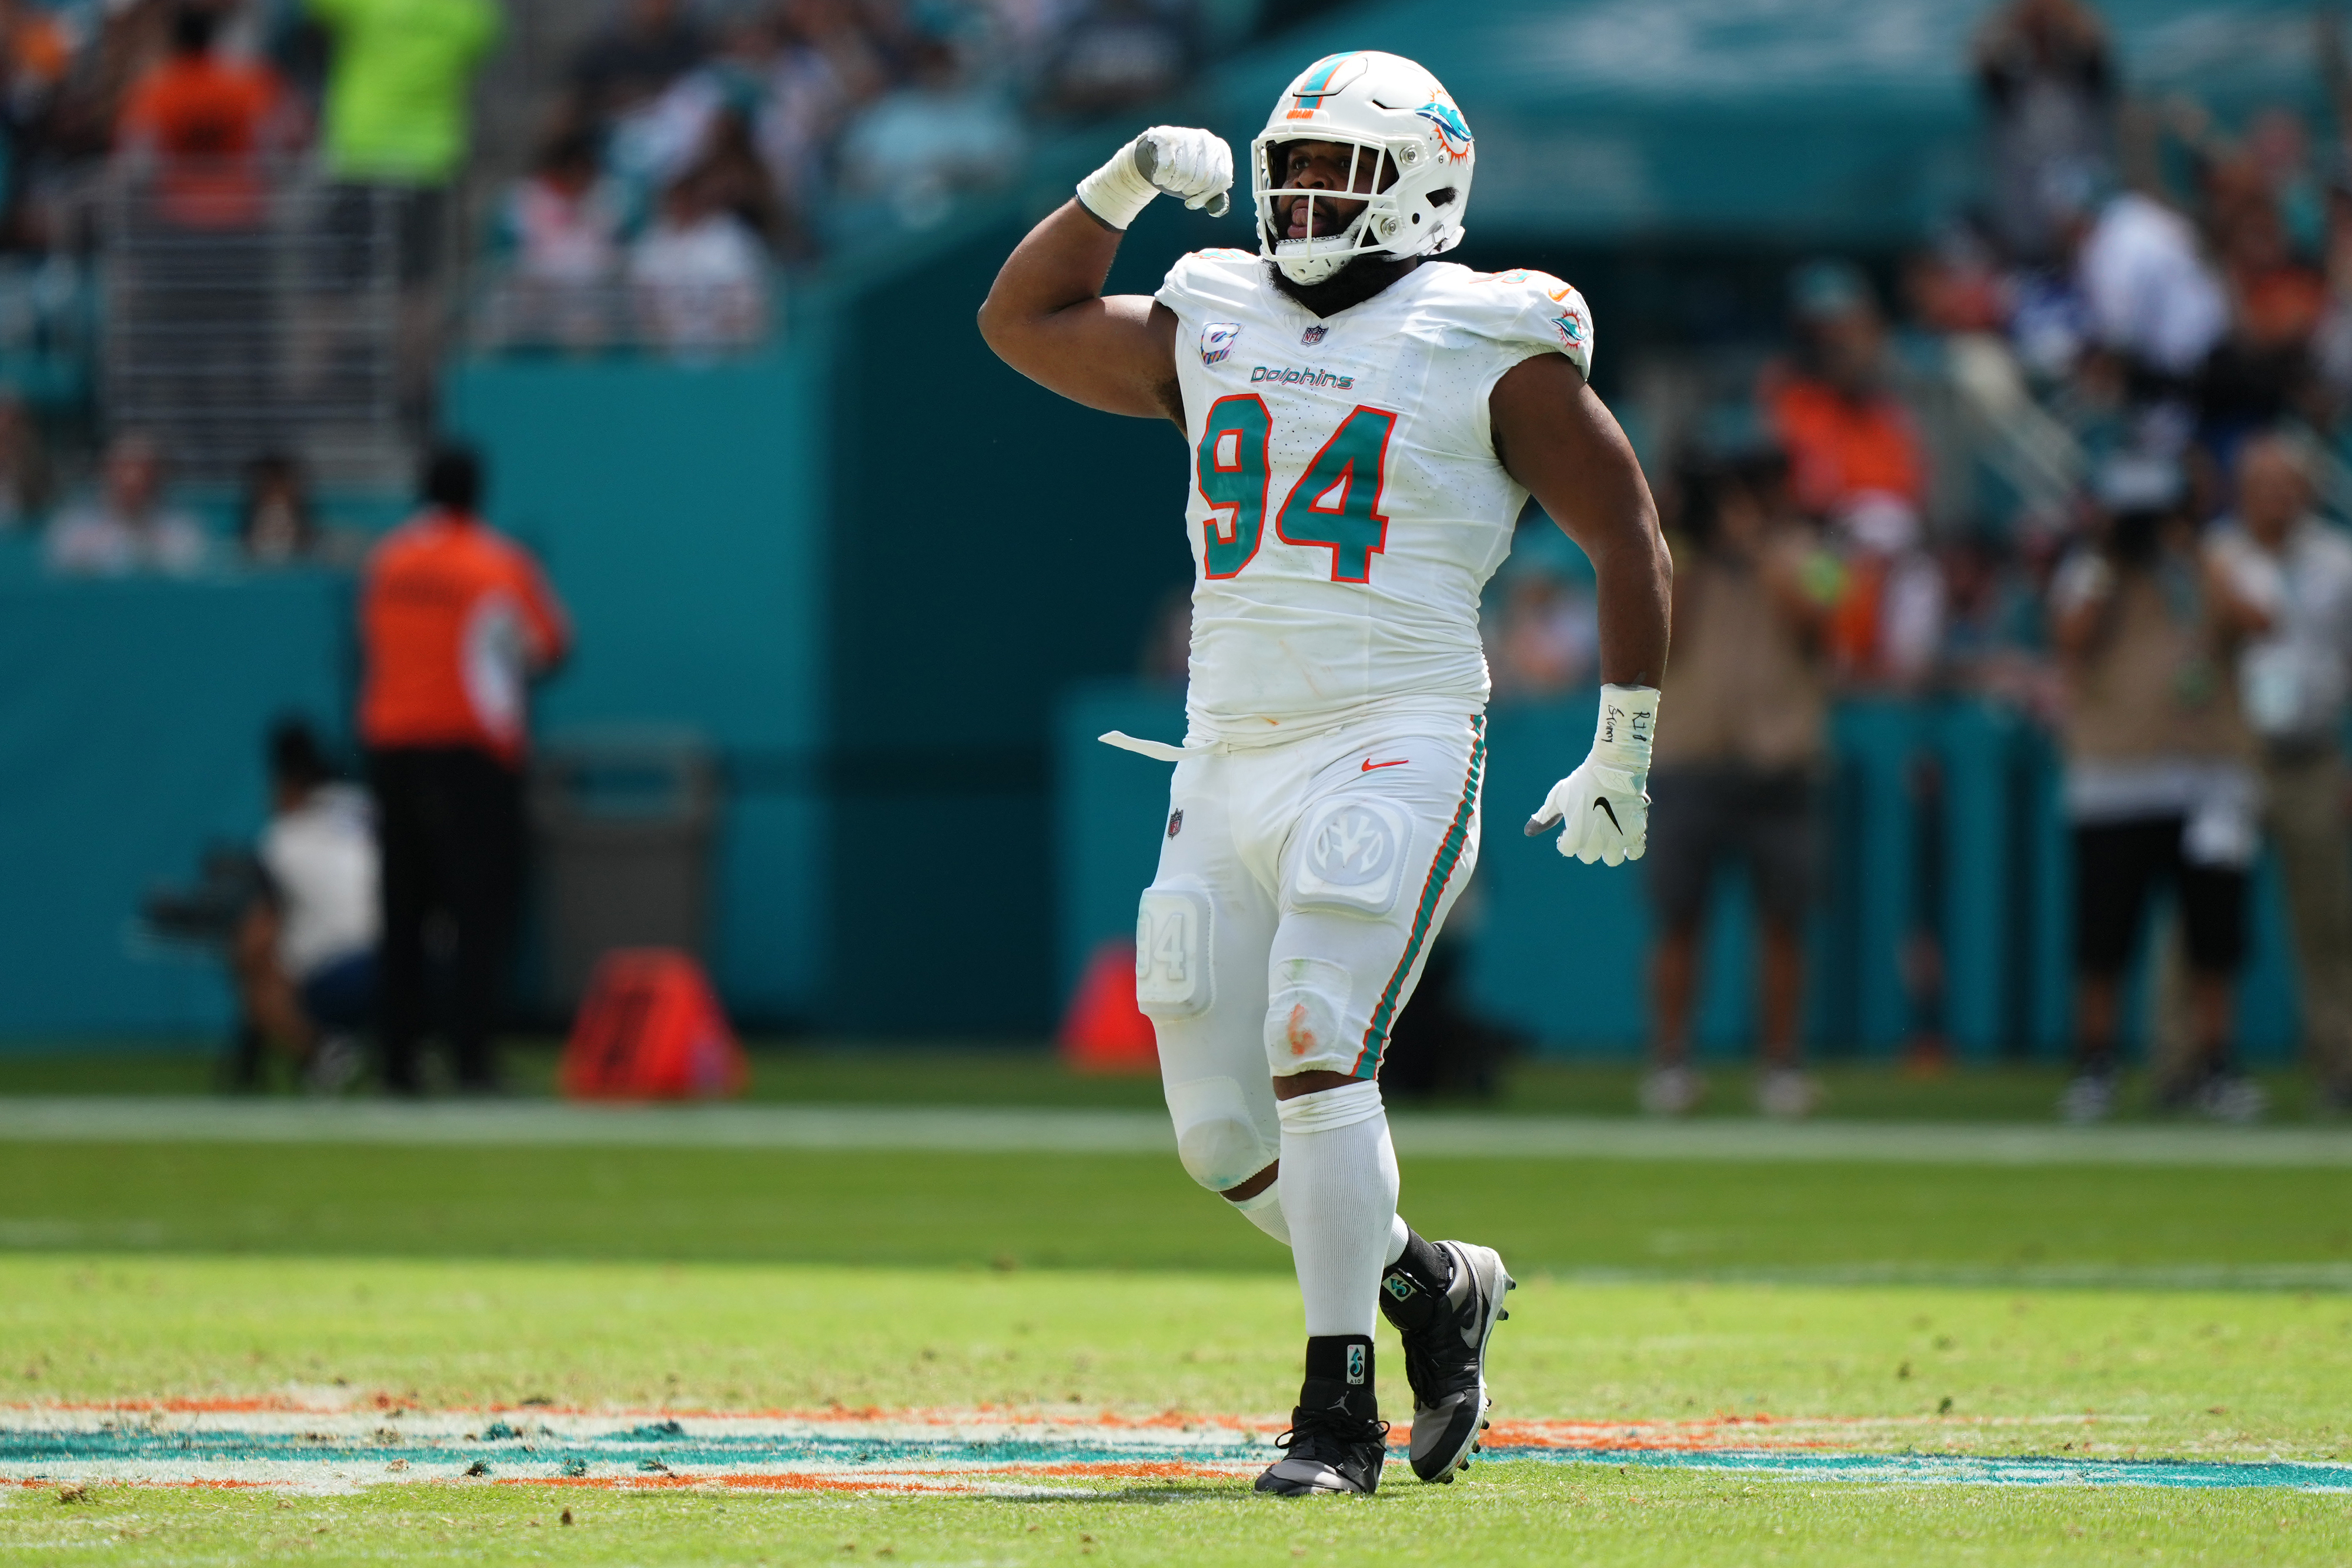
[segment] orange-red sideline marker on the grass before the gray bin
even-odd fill
[[[572,1100],[710,1100],[741,1093],[750,1063],[703,966],[675,947],[597,959],[564,1046]]]

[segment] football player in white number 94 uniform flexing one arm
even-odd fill
[[[1451,1481],[1486,1415],[1510,1274],[1397,1215],[1381,1051],[1479,844],[1479,590],[1529,494],[1599,576],[1592,755],[1529,820],[1618,865],[1649,830],[1670,564],[1632,447],[1585,386],[1592,317],[1543,273],[1435,261],[1477,146],[1395,54],[1315,61],[1249,148],[1256,252],[1103,299],[1160,193],[1221,214],[1232,153],[1155,127],[1014,249],[981,334],[1033,381],[1185,435],[1192,658],[1136,999],[1185,1171],[1291,1246],[1305,1385],[1282,1495],[1371,1493],[1374,1309],[1404,1342],[1411,1465]]]

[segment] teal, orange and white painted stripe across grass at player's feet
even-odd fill
[[[967,1476],[1035,1472],[1082,1476],[1134,1467],[1202,1467],[1235,1472],[1272,1458],[1263,1434],[1070,1436],[936,1436],[833,1432],[691,1434],[677,1422],[649,1422],[583,1436],[513,1434],[492,1425],[459,1439],[358,1439],[350,1434],[139,1427],[14,1427],[0,1429],[0,1476],[12,1481],[202,1481],[242,1474],[256,1483],[301,1486],[306,1474],[358,1476],[365,1483],[437,1481],[475,1465],[503,1481],[640,1481],[826,1476]],[[2286,1488],[2352,1493],[2352,1465],[2216,1462],[2216,1460],[2074,1460],[1978,1458],[1950,1453],[1788,1453],[1769,1448],[1564,1448],[1555,1443],[1489,1443],[1491,1460],[1545,1465],[1642,1465],[1651,1469],[1738,1472],[1783,1481],[1842,1481],[1863,1486],[2157,1486],[2157,1488]],[[365,1472],[365,1474],[360,1474]]]

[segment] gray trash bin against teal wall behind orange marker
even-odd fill
[[[708,959],[717,757],[691,733],[593,731],[532,766],[546,891],[546,1001],[569,1016],[614,947]]]

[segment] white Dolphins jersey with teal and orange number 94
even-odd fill
[[[1548,273],[1423,261],[1319,320],[1258,256],[1209,249],[1157,299],[1181,322],[1192,442],[1190,741],[1484,708],[1479,592],[1526,505],[1486,395],[1541,353],[1590,374],[1583,296]]]

